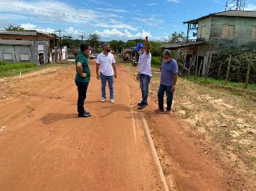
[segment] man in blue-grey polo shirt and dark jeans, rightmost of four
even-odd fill
[[[163,62],[161,64],[161,82],[158,90],[158,109],[155,112],[171,112],[171,105],[174,97],[175,86],[178,80],[178,64],[171,56],[170,50],[163,52]],[[167,107],[163,109],[163,95],[167,95]]]

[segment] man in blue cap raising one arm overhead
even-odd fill
[[[148,89],[149,83],[152,77],[151,74],[151,53],[146,36],[145,41],[146,47],[143,44],[137,44],[136,51],[140,54],[138,59],[138,76],[137,79],[140,81],[142,101],[138,103],[138,109],[144,109],[148,105]]]

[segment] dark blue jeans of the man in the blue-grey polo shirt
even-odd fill
[[[163,109],[163,95],[164,92],[166,92],[167,95],[167,110],[171,110],[171,104],[174,97],[174,93],[171,92],[171,86],[164,86],[160,84],[159,90],[158,90],[158,107],[159,109]]]

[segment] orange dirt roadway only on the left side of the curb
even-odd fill
[[[163,190],[140,120],[133,127],[128,74],[119,69],[110,104],[92,71],[90,119],[77,118],[74,67],[2,84],[0,190]]]

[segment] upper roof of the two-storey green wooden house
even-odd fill
[[[251,17],[256,18],[256,11],[237,11],[237,10],[230,10],[230,11],[223,11],[219,13],[213,13],[209,14],[207,16],[202,16],[199,19],[193,19],[190,21],[184,21],[183,23],[191,23],[191,24],[197,24],[199,20],[205,19],[209,16],[237,16],[237,17]]]

